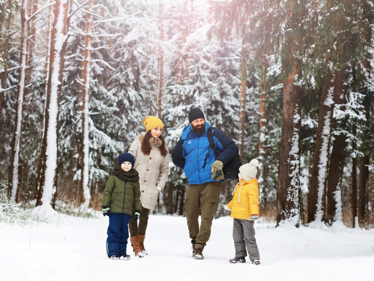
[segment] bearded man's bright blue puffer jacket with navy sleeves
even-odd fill
[[[206,133],[209,127],[211,127],[209,123],[205,122],[205,132],[201,135],[195,133],[191,125],[185,127],[172,153],[173,163],[175,166],[184,169],[188,184],[215,181],[215,179],[212,179],[211,165],[217,159],[226,164],[236,153],[235,143],[217,128],[212,130],[212,135],[219,153],[214,152],[209,145]]]

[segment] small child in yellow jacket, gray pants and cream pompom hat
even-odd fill
[[[245,263],[247,250],[251,262],[260,265],[260,254],[255,238],[254,222],[261,223],[258,212],[258,160],[239,167],[239,183],[233,191],[233,199],[225,205],[231,211],[230,217],[234,218],[233,239],[235,257],[230,263]]]

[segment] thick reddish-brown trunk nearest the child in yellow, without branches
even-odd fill
[[[303,1],[290,1],[287,7],[286,29],[297,30],[298,36],[287,35],[287,48],[283,51],[282,67],[285,72],[283,81],[282,137],[279,148],[278,169],[278,210],[277,226],[285,221],[296,227],[301,224],[301,188],[300,188],[300,130],[301,130],[301,79],[299,58],[301,52],[302,27],[304,14]]]

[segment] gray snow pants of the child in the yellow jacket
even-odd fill
[[[248,250],[249,259],[251,259],[251,261],[260,259],[253,225],[254,221],[234,218],[233,239],[235,257],[246,257],[246,250]],[[245,249],[245,247],[247,247],[247,249]]]

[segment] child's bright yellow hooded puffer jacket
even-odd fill
[[[257,179],[242,180],[233,191],[233,199],[227,204],[231,210],[230,217],[248,220],[251,215],[258,213],[258,183]]]

